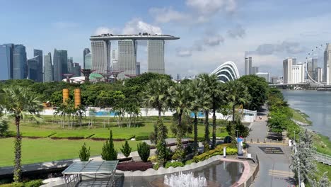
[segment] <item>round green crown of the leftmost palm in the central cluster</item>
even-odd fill
[[[161,120],[161,112],[167,107],[169,81],[167,79],[153,79],[147,84],[144,91],[144,105],[158,109],[158,119]]]

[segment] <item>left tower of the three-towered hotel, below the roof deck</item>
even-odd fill
[[[91,41],[92,47],[92,69],[95,73],[107,73],[110,65],[110,41]]]

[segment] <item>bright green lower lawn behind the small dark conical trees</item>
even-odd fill
[[[13,165],[13,142],[14,138],[0,139],[0,166]],[[74,159],[79,157],[79,149],[86,142],[88,147],[91,147],[91,156],[100,155],[101,147],[105,141],[94,140],[52,140],[50,138],[28,139],[22,140],[22,164],[30,164],[36,162],[49,162],[61,159]],[[128,141],[132,147],[132,151],[137,150],[139,141]],[[117,151],[124,142],[114,142]]]

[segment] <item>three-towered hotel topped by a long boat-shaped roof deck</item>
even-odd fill
[[[95,73],[105,74],[110,71],[122,72],[124,75],[136,75],[137,68],[137,40],[147,40],[148,72],[165,74],[164,66],[164,40],[178,40],[172,35],[151,35],[139,33],[139,35],[112,35],[102,34],[91,36],[92,67]],[[110,68],[111,40],[118,41],[118,60]]]

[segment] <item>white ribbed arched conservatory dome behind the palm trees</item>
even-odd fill
[[[211,74],[216,74],[221,82],[239,79],[238,68],[235,63],[228,61],[217,67]]]

